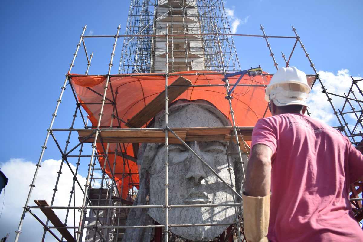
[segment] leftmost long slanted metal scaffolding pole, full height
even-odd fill
[[[79,42],[77,44],[76,52],[73,54],[73,60],[69,64],[68,73],[70,73],[70,71],[72,70],[72,67],[74,66],[73,65],[74,64],[74,60],[76,60],[79,47],[81,46],[81,42],[82,42],[83,35],[85,34],[85,31],[86,31],[86,27],[87,27],[87,25],[85,25],[83,27],[82,34],[81,34],[80,39],[79,39]],[[57,100],[56,110],[52,114],[53,115],[53,118],[52,118],[52,121],[50,122],[50,125],[49,125],[49,128],[48,128],[48,133],[47,133],[46,138],[45,138],[45,141],[44,141],[44,145],[42,145],[42,151],[40,153],[40,157],[39,157],[39,160],[38,160],[38,164],[36,164],[36,167],[37,168],[35,169],[33,181],[32,181],[32,184],[29,185],[30,186],[30,190],[29,190],[28,198],[26,198],[26,202],[25,202],[23,214],[21,215],[21,219],[20,219],[20,223],[19,223],[18,229],[15,231],[15,233],[16,233],[15,240],[14,240],[15,242],[17,242],[18,239],[19,239],[19,235],[21,233],[21,227],[23,226],[23,222],[24,222],[25,213],[28,212],[28,205],[29,205],[29,201],[30,201],[30,196],[32,195],[33,188],[35,187],[34,183],[35,183],[35,180],[37,178],[39,168],[41,167],[40,163],[41,163],[41,161],[43,159],[44,151],[46,149],[46,144],[48,143],[49,135],[50,135],[50,132],[52,131],[54,119],[57,116],[58,107],[59,107],[59,104],[61,103],[64,90],[66,89],[67,81],[68,81],[68,75],[66,76],[66,79],[65,79],[65,81],[63,83],[63,86],[61,87],[62,91],[61,91],[61,94],[60,94],[59,99]]]

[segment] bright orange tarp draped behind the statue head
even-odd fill
[[[195,73],[194,75],[190,75]],[[203,74],[208,73],[208,74]],[[209,85],[209,84],[224,84],[222,78],[223,75],[220,73],[211,72],[194,72],[186,71],[180,72],[179,75],[190,80],[193,85]],[[184,75],[183,75],[184,74]],[[189,75],[185,75],[189,74]],[[171,85],[179,75],[173,75],[168,78],[168,85]],[[240,76],[228,78],[230,85],[237,81]],[[256,77],[249,77],[245,75],[239,84],[248,85],[267,85],[270,82],[271,76],[258,75]],[[309,85],[314,81],[314,78],[308,78]],[[101,113],[100,104],[87,104],[87,103],[101,103],[103,93],[105,91],[105,76],[73,76],[71,83],[76,91],[79,101],[82,107],[87,111],[89,119],[93,126],[97,126],[99,113]],[[165,77],[160,75],[138,75],[138,76],[113,76],[110,78],[109,89],[107,89],[106,103],[114,101],[116,105],[105,104],[102,111],[101,126],[113,127],[118,126],[118,121],[111,118],[111,114],[118,116],[118,118],[127,122],[128,119],[132,118],[137,112],[139,112],[147,103],[154,99],[159,93],[164,90]],[[223,86],[217,87],[190,87],[187,91],[179,96],[178,99],[184,98],[188,100],[205,99],[214,104],[221,112],[223,112],[230,120],[231,114],[229,109],[228,100],[225,99],[226,90]],[[264,99],[265,88],[264,87],[253,87],[253,86],[237,86],[232,94],[232,107],[234,115],[236,117],[236,126],[254,126],[258,119],[266,112],[267,102]],[[114,107],[116,108],[114,110]],[[265,116],[270,116],[270,112],[267,110]],[[111,124],[111,122],[113,122]],[[127,128],[124,123],[121,123],[122,128]],[[143,127],[146,127],[144,125]],[[109,152],[114,152],[117,144],[110,144]],[[106,144],[104,144],[106,147]],[[122,148],[122,151],[133,155],[132,145],[125,144],[126,151]],[[118,149],[119,151],[120,149]],[[97,145],[97,151],[103,152],[101,145]],[[111,175],[113,170],[115,156],[109,155],[110,165],[106,165],[107,174]],[[105,159],[99,158],[101,167],[103,167]],[[126,164],[123,164],[122,157],[116,157],[115,167],[115,180],[119,182],[119,189],[123,188],[121,193],[122,197],[126,198],[129,189],[133,185],[138,188],[139,177],[138,166],[136,163],[130,160],[126,160]],[[124,171],[125,167],[125,171]],[[122,174],[125,174],[122,181]],[[132,175],[128,175],[128,174]]]

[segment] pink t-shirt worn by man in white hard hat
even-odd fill
[[[300,114],[258,120],[254,144],[272,151],[271,242],[363,241],[349,184],[363,175],[363,156],[330,126]]]

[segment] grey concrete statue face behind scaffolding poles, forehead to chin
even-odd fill
[[[175,104],[168,110],[169,127],[221,127],[230,126],[227,117],[207,103]],[[155,128],[164,127],[164,115],[156,116]],[[205,162],[208,163],[229,185],[226,153],[227,142],[191,141],[187,142]],[[150,205],[165,204],[165,148],[160,144],[148,144],[144,153],[143,167],[150,174]],[[233,203],[232,191],[219,180],[183,144],[170,144],[169,204],[224,204]],[[235,185],[234,165],[231,160],[232,185]],[[148,214],[160,224],[165,223],[165,212],[151,208]],[[172,208],[169,224],[231,223],[235,220],[234,207],[194,207]],[[171,232],[191,241],[207,241],[220,235],[228,225],[171,227]]]

